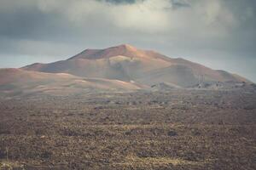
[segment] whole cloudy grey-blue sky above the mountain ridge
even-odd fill
[[[128,43],[256,82],[255,0],[0,0],[0,67]]]

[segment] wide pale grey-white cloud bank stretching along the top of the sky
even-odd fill
[[[173,8],[170,0],[144,0],[119,5],[95,0],[38,2],[42,11],[62,14],[75,26],[94,23],[100,26],[103,21],[128,31],[172,33],[186,28],[193,32],[209,31],[210,35],[212,32],[218,32],[223,36],[222,33],[239,25],[233,12],[222,0],[187,1],[189,8]],[[95,19],[94,23],[88,22],[91,19]]]

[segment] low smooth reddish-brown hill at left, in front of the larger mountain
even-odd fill
[[[66,73],[44,73],[21,69],[0,69],[0,94],[79,94],[108,90],[124,92],[143,88],[136,83],[101,78],[76,77]]]

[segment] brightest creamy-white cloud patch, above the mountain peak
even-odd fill
[[[147,0],[134,4],[113,6],[110,14],[114,24],[137,31],[167,31],[170,26],[169,0]]]

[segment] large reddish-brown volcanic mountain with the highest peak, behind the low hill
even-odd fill
[[[175,87],[192,87],[199,82],[247,82],[227,71],[215,71],[186,59],[173,59],[131,45],[86,49],[67,60],[32,64],[26,71],[68,73],[77,77],[137,82],[148,86],[165,82]]]

